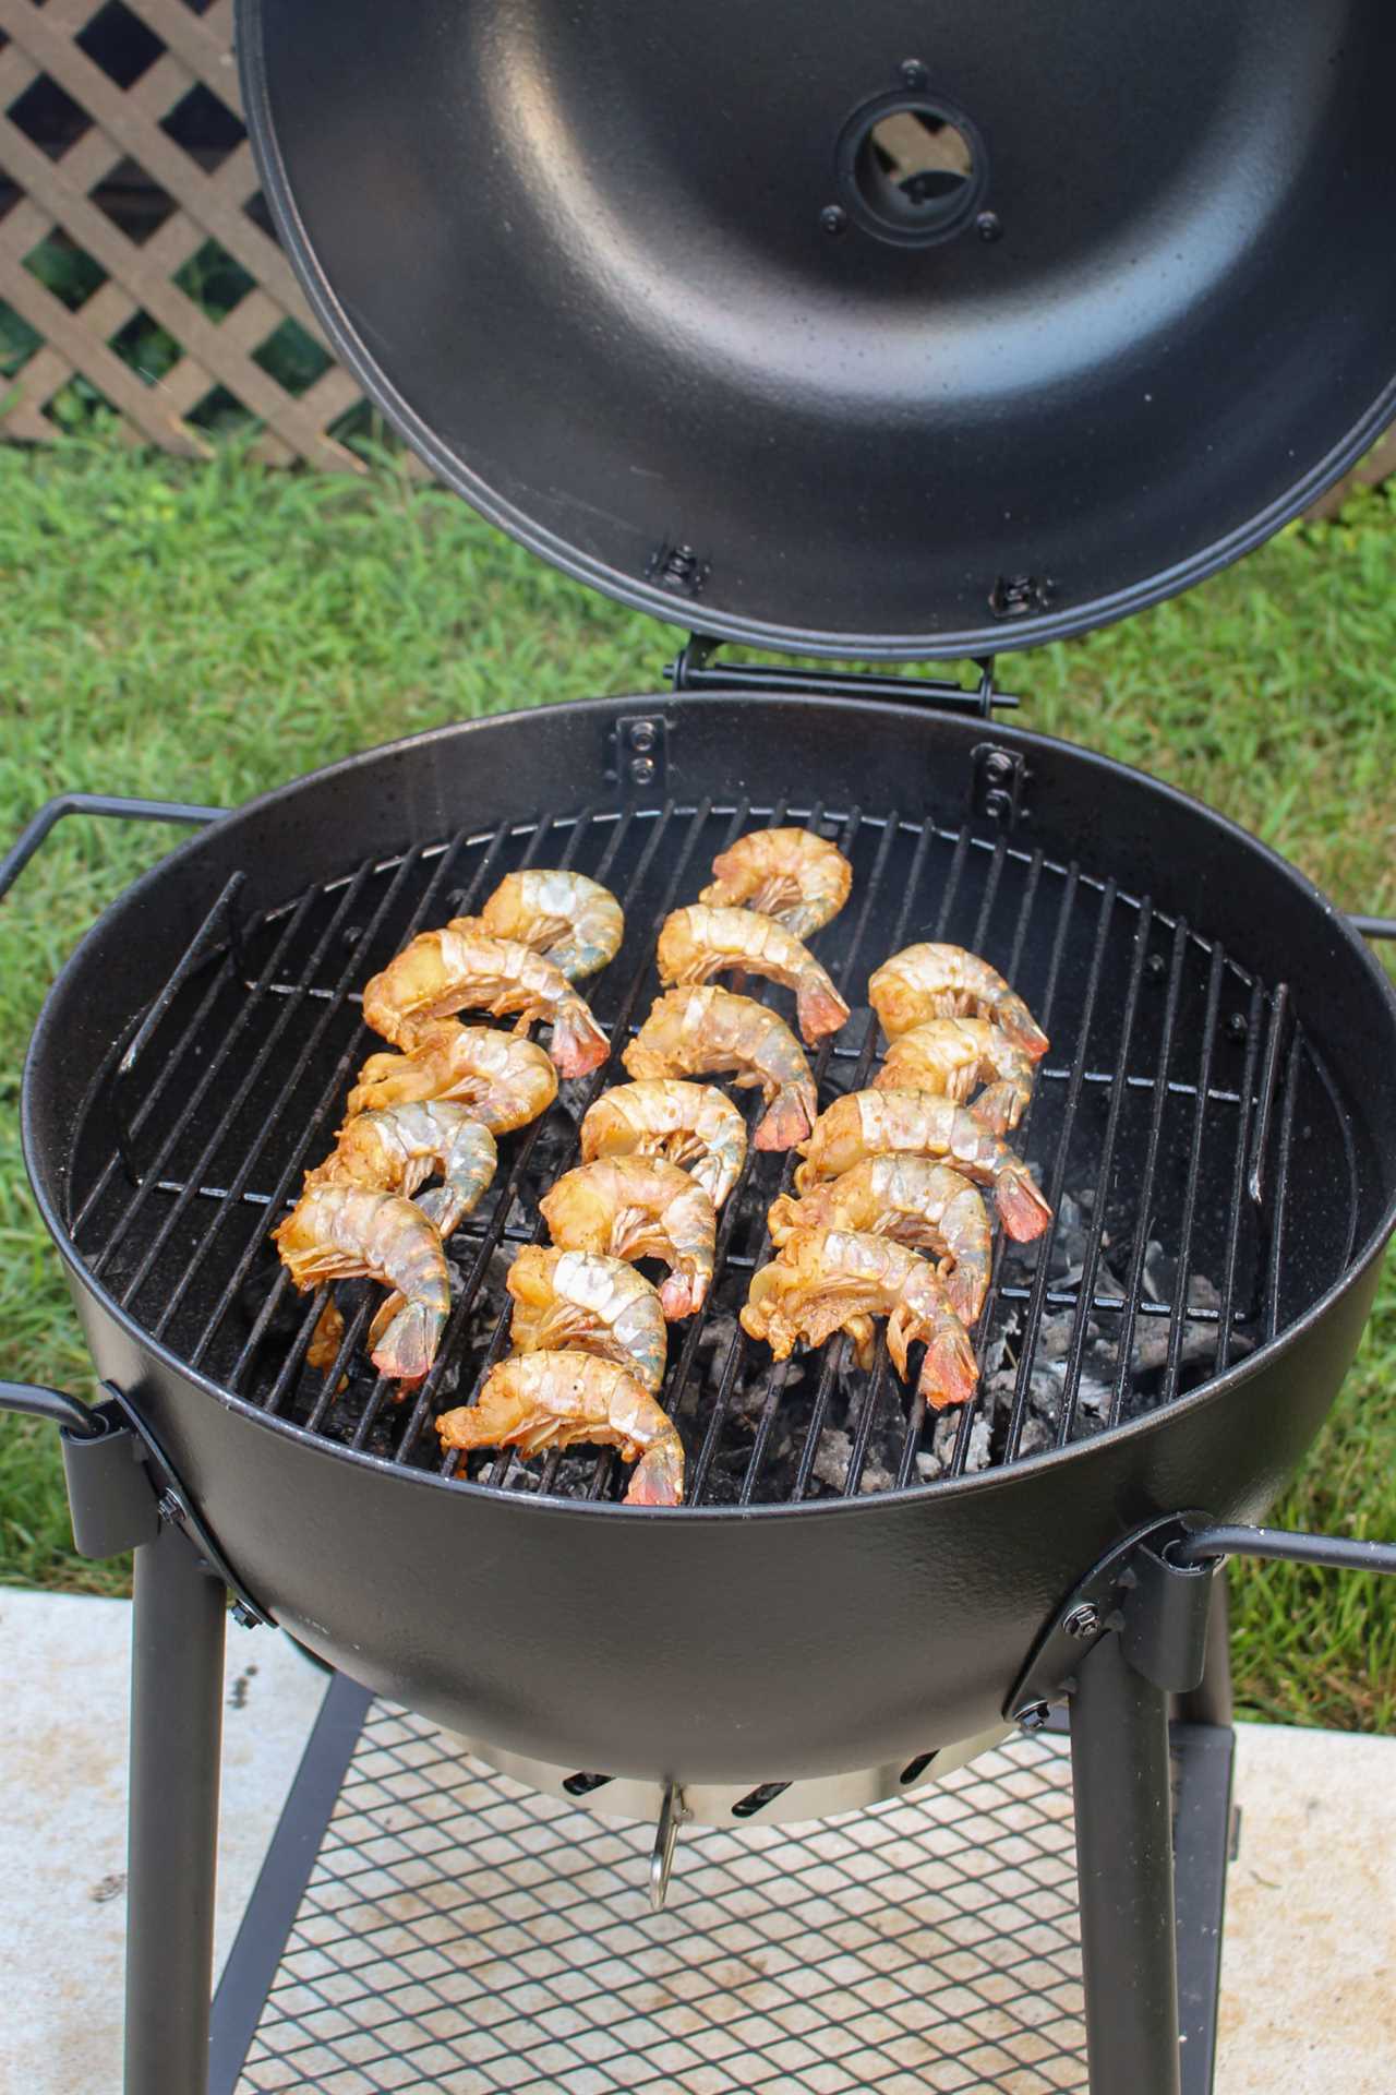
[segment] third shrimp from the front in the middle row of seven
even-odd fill
[[[718,1211],[678,1165],[661,1156],[596,1156],[567,1171],[538,1207],[559,1251],[663,1259],[670,1276],[659,1307],[670,1322],[707,1301]]]

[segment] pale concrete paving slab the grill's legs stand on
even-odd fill
[[[0,1588],[4,2095],[119,2089],[128,1655],[126,1603]],[[320,1697],[228,1632],[220,1963]],[[1396,1741],[1243,1724],[1237,1802],[1216,2095],[1390,2095]]]

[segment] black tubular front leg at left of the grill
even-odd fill
[[[224,1605],[178,1527],[136,1550],[126,2095],[207,2089]]]

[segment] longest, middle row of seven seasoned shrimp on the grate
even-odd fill
[[[718,1211],[741,1177],[747,1123],[712,1083],[760,1085],[760,1148],[791,1148],[816,1119],[814,1077],[785,1020],[716,974],[760,974],[795,993],[806,1041],[848,1018],[804,945],[843,905],[852,869],[804,830],[739,838],[714,884],[674,909],[657,943],[666,985],[624,1064],[582,1121],[582,1163],[540,1203],[550,1247],[509,1270],[511,1358],[475,1404],[437,1420],[448,1448],[527,1454],[599,1441],[634,1462],[628,1504],[678,1504],[684,1448],[657,1397],[668,1324],[695,1316],[714,1276]],[[636,1261],[666,1267],[655,1286]]]

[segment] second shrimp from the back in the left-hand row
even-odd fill
[[[364,1022],[393,1048],[412,1050],[425,1024],[467,1006],[492,1018],[517,1012],[517,1033],[544,1018],[559,1077],[584,1077],[609,1054],[590,1006],[550,960],[515,939],[492,939],[469,918],[419,932],[364,989]]]

